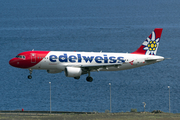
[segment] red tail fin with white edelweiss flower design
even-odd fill
[[[162,28],[155,28],[142,45],[131,54],[156,55],[162,30]]]

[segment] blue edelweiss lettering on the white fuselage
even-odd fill
[[[106,54],[103,56],[82,56],[81,54],[75,55],[67,55],[64,53],[64,55],[56,56],[56,55],[50,55],[49,60],[51,62],[57,62],[57,59],[60,62],[71,62],[71,63],[81,63],[83,60],[87,62],[93,62],[95,61],[96,63],[123,63],[125,62],[124,57],[115,57],[115,56],[110,56],[108,57]]]

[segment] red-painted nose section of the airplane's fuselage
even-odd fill
[[[13,58],[9,64],[18,68],[31,68],[43,60],[50,51],[26,51],[19,53],[18,56],[25,56],[25,58]]]

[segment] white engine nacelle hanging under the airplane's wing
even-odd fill
[[[78,67],[66,67],[64,73],[66,77],[79,77],[82,75],[82,69]]]

